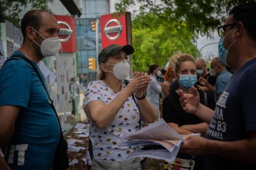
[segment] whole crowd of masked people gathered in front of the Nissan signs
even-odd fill
[[[153,64],[148,73],[127,79],[127,55],[134,47],[105,47],[98,54],[98,80],[88,84],[83,102],[90,124],[87,169],[147,169],[144,157],[127,159],[137,147],[119,144],[123,135],[159,118],[179,134],[201,134],[189,136],[177,155],[193,159],[194,169],[254,169],[255,18],[256,2],[230,10],[218,26],[219,56],[210,68],[177,52],[166,71]],[[53,14],[27,12],[21,21],[22,47],[0,70],[0,169],[53,169],[59,122],[37,63],[59,52],[59,29]]]

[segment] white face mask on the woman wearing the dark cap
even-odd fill
[[[130,75],[130,65],[127,62],[127,60],[123,60],[122,62],[116,63],[116,64],[109,64],[108,65],[114,65],[113,71],[109,71],[111,73],[114,73],[114,76],[116,76],[117,79],[126,79]]]

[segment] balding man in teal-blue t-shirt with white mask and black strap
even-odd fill
[[[11,169],[52,169],[59,123],[32,65],[45,83],[37,63],[58,54],[59,25],[53,14],[30,10],[21,30],[22,46],[0,70],[0,147],[7,145],[5,159]]]

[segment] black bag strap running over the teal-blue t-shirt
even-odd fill
[[[11,60],[11,59],[14,60],[15,58],[16,58],[16,59],[19,58],[19,59],[25,60],[27,63],[29,63],[29,64],[32,66],[32,68],[33,68],[33,70],[35,71],[35,73],[36,73],[36,75],[38,76],[38,78],[40,79],[41,84],[43,85],[43,88],[45,89],[46,94],[48,95],[48,98],[49,98],[49,102],[50,102],[50,104],[51,104],[51,107],[53,108],[53,111],[54,111],[54,113],[55,113],[55,115],[56,115],[56,117],[57,117],[57,119],[58,119],[59,130],[60,130],[60,133],[61,133],[61,135],[60,135],[60,140],[61,140],[61,139],[64,139],[63,134],[62,134],[62,129],[61,129],[61,123],[59,122],[59,117],[58,117],[57,111],[56,111],[56,109],[55,109],[55,107],[54,107],[54,105],[53,105],[53,100],[51,100],[51,97],[49,96],[48,91],[47,91],[47,89],[46,89],[45,83],[43,83],[43,79],[41,78],[41,75],[40,75],[40,73],[38,72],[37,68],[35,67],[35,65],[34,65],[27,57],[23,57],[22,55],[12,55],[12,57],[11,57],[9,60]],[[6,61],[6,62],[7,62],[7,61]]]

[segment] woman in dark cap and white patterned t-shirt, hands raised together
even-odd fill
[[[111,44],[98,55],[99,80],[88,85],[83,101],[90,123],[86,156],[89,169],[147,169],[143,158],[127,160],[137,147],[118,147],[121,136],[140,129],[140,116],[145,123],[156,119],[155,109],[145,93],[151,78],[137,73],[126,83],[130,72],[127,55],[133,53],[134,47],[130,45]]]

